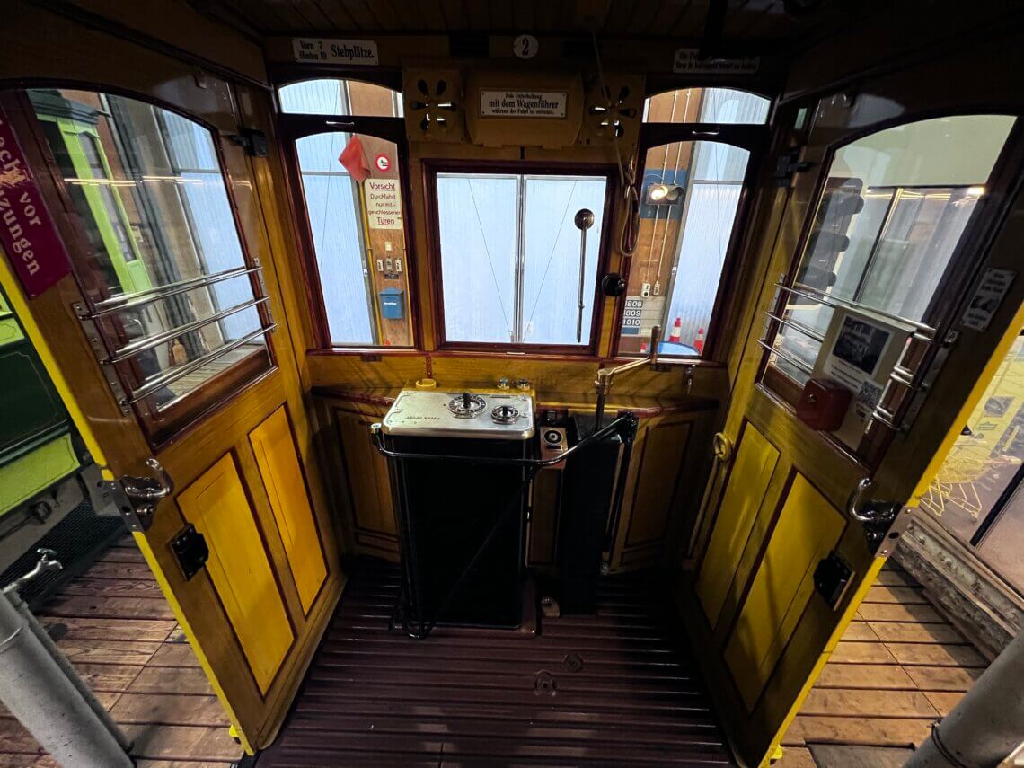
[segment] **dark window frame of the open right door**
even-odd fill
[[[808,136],[813,127],[810,125],[813,112],[817,109],[817,101],[808,105]],[[786,270],[782,278],[782,285],[790,288],[797,281],[800,265],[803,262],[807,244],[811,237],[814,221],[817,217],[818,208],[824,195],[825,186],[828,182],[828,172],[836,159],[836,154],[843,147],[852,144],[859,139],[881,133],[891,128],[903,125],[937,120],[947,117],[971,116],[971,115],[1002,115],[1015,119],[1007,139],[996,156],[986,183],[986,194],[978,201],[977,208],[971,219],[965,226],[949,260],[946,263],[942,278],[936,286],[935,293],[919,323],[931,326],[935,329],[935,342],[916,343],[911,342],[910,348],[904,352],[900,365],[910,370],[920,367],[927,367],[934,359],[935,352],[943,338],[952,330],[955,321],[962,311],[962,302],[966,292],[974,284],[981,273],[985,264],[985,254],[992,240],[997,234],[999,224],[1006,212],[1009,210],[1014,199],[1014,183],[1017,173],[1024,164],[1024,113],[1015,112],[1006,105],[998,104],[971,104],[969,106],[949,109],[940,108],[934,110],[911,111],[894,117],[890,120],[882,120],[857,129],[844,133],[840,138],[829,143],[823,153],[821,163],[818,166],[817,177],[814,180],[814,187],[811,194],[811,205],[801,222],[800,234],[790,255]],[[791,201],[792,203],[792,201]],[[966,254],[976,251],[978,256],[975,259],[966,258]],[[766,285],[769,288],[774,285]],[[769,311],[776,316],[784,316],[787,293],[777,290],[776,295],[768,304]],[[778,338],[778,328],[780,324],[768,323],[766,331],[760,338],[769,346],[774,344]],[[793,379],[777,366],[769,361],[772,352],[762,348],[758,373],[755,378],[757,386],[763,388],[773,398],[779,400],[791,411],[796,411],[797,404],[803,394],[804,385]],[[896,417],[896,423],[900,423],[906,412],[910,400],[913,399],[911,392],[905,388],[888,387],[884,392],[879,404],[887,409]],[[872,422],[861,437],[859,445],[846,445],[838,440],[830,433],[819,433],[829,443],[836,445],[845,454],[851,456],[861,466],[873,470],[881,464],[886,452],[898,432],[890,429],[879,422]]]

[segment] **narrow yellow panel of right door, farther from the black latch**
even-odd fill
[[[750,423],[736,451],[729,484],[697,577],[697,596],[714,628],[778,463],[778,451]]]

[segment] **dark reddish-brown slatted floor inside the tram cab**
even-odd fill
[[[413,640],[389,630],[398,589],[391,565],[351,574],[259,768],[728,765],[666,591],[642,577],[604,581],[596,615],[543,620],[536,637]]]

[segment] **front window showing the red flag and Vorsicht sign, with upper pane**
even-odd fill
[[[322,346],[411,347],[401,94],[354,80],[308,80],[282,87],[279,97]],[[341,131],[337,121],[299,115],[356,117]],[[375,118],[372,130],[360,129],[360,117]],[[383,130],[381,117],[393,119]]]

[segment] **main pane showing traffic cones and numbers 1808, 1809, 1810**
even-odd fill
[[[620,354],[703,353],[736,219],[750,153],[716,141],[676,141],[647,151],[640,237],[630,264]]]

